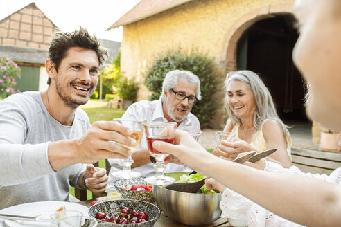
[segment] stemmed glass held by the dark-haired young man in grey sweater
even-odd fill
[[[123,147],[127,147],[128,149],[131,149],[132,153],[134,153],[140,146],[141,137],[143,134],[143,123],[146,122],[146,120],[114,118],[114,122],[118,122],[119,124],[129,127],[134,131],[130,137],[136,140],[135,147],[121,145]],[[132,160],[132,156],[122,159],[122,163],[123,169],[113,172],[112,176],[120,179],[132,179],[140,177],[142,175],[139,172],[132,171],[132,163],[134,163],[134,160]]]

